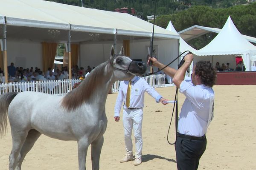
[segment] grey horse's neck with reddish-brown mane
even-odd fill
[[[114,81],[113,68],[108,62],[104,62],[91,71],[77,88],[64,96],[62,105],[68,110],[74,110],[84,103],[105,107],[108,92]]]

